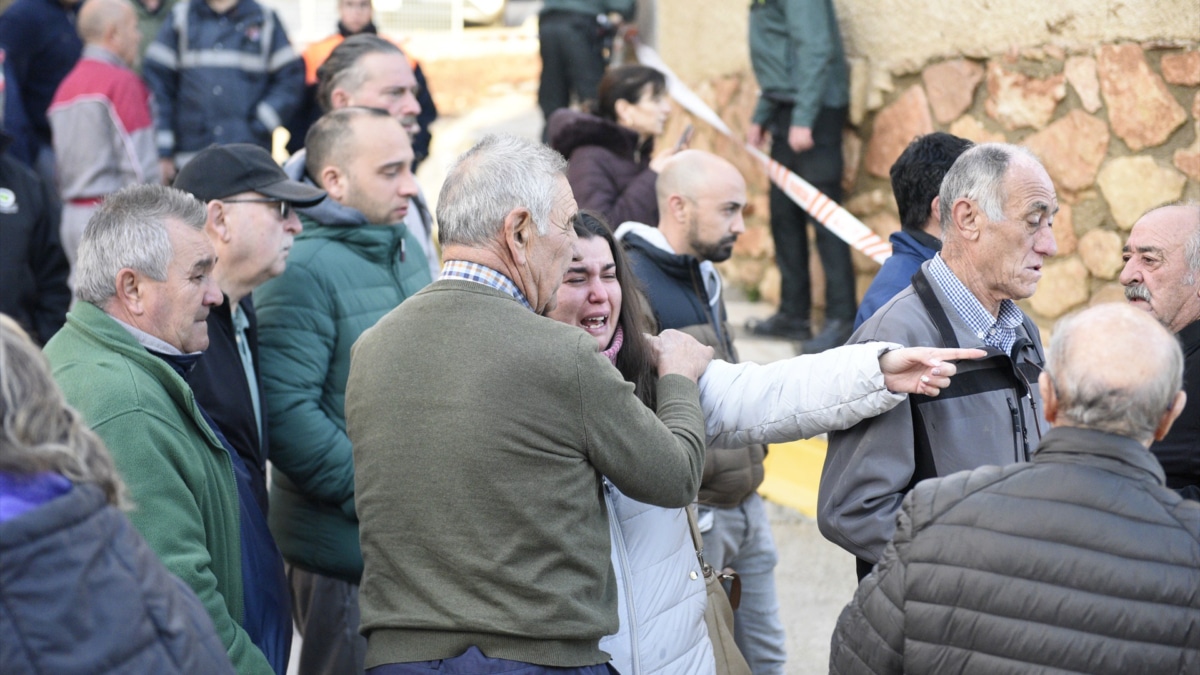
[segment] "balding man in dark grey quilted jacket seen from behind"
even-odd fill
[[[1200,673],[1200,503],[1147,452],[1183,411],[1182,370],[1127,305],[1061,321],[1038,376],[1054,429],[1028,464],[905,497],[829,671]]]

